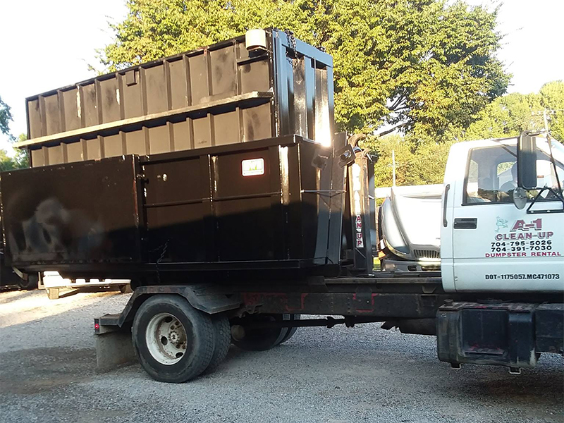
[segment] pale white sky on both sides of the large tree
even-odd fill
[[[498,1],[466,0],[493,8]],[[14,135],[27,133],[25,98],[92,78],[101,68],[96,49],[112,40],[109,22],[125,18],[121,0],[25,0],[0,6],[0,97],[11,106]],[[513,73],[508,92],[538,92],[564,79],[563,0],[505,0],[498,30],[499,59]],[[560,52],[559,52],[560,51]],[[0,148],[7,138],[0,135]]]

